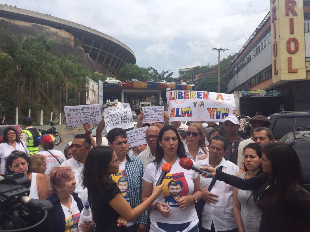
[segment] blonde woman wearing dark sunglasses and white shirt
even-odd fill
[[[186,137],[185,154],[188,158],[197,162],[199,159],[206,158],[209,155],[205,143],[205,130],[201,123],[191,123],[186,131]]]

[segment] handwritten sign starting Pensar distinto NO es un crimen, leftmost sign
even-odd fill
[[[98,124],[102,118],[100,105],[72,105],[64,107],[64,115],[68,126],[89,124]]]

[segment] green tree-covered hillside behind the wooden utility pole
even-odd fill
[[[233,59],[235,58],[235,55],[229,55],[227,58],[224,58],[220,62],[219,66],[219,73],[220,73],[220,79],[219,79],[219,90],[222,93],[225,93],[227,91],[227,70],[229,66],[231,65]],[[188,80],[189,75],[196,74],[196,73],[208,73],[210,72],[210,75],[207,75],[205,78],[203,78],[197,85],[196,90],[201,91],[210,91],[210,92],[217,92],[217,70],[218,66],[202,66],[202,67],[195,67],[193,68],[189,73],[184,74],[181,79]]]

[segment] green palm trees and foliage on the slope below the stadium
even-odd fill
[[[47,124],[50,112],[57,118],[65,105],[85,104],[86,76],[96,82],[105,78],[79,64],[73,55],[55,56],[57,43],[43,33],[20,40],[1,30],[0,41],[0,114],[9,123],[21,122],[31,110],[34,123]]]

